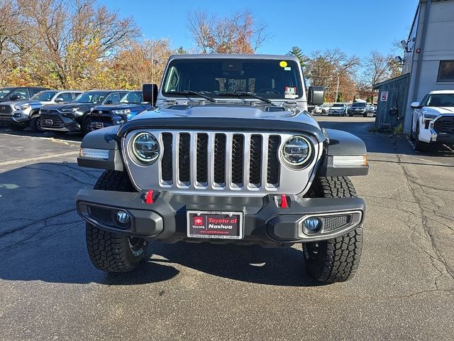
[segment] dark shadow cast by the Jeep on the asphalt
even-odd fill
[[[194,269],[250,283],[318,285],[306,274],[301,247],[152,242],[136,271],[98,271],[89,261],[85,224],[74,207],[77,191],[92,188],[98,176],[99,170],[65,162],[28,164],[0,173],[2,280],[136,285],[167,281]]]

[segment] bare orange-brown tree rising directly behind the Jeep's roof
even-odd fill
[[[201,53],[255,53],[269,38],[265,24],[254,21],[249,10],[225,18],[189,13],[187,28]]]

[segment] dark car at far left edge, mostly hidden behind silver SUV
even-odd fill
[[[45,87],[2,87],[0,88],[0,127],[11,123],[12,102],[30,99]]]

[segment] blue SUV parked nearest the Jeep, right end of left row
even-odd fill
[[[135,115],[151,109],[150,103],[143,102],[141,91],[130,91],[118,102],[118,104],[97,105],[89,114],[92,130],[114,126],[129,121]]]

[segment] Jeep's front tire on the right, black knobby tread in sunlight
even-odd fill
[[[316,178],[314,197],[358,197],[347,177]],[[358,271],[362,251],[362,226],[341,237],[303,245],[306,269],[316,281],[333,283],[352,278]]]

